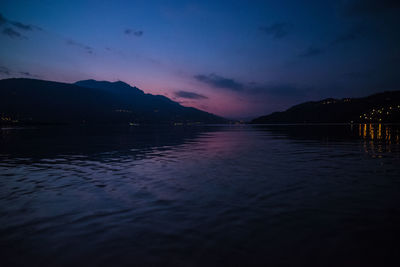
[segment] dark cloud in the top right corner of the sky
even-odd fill
[[[398,0],[348,0],[342,2],[342,12],[347,16],[378,15],[400,8]]]

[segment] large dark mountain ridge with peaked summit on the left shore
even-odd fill
[[[0,80],[0,123],[224,123],[224,118],[124,82]]]

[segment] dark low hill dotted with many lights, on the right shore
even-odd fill
[[[268,123],[348,123],[400,122],[400,91],[378,93],[363,98],[328,98],[305,102],[283,112],[274,112],[251,121]]]

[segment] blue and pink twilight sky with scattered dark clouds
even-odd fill
[[[400,89],[400,1],[0,1],[0,79],[124,81],[228,118]]]

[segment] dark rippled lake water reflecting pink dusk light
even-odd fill
[[[0,131],[1,266],[399,266],[396,125]]]

